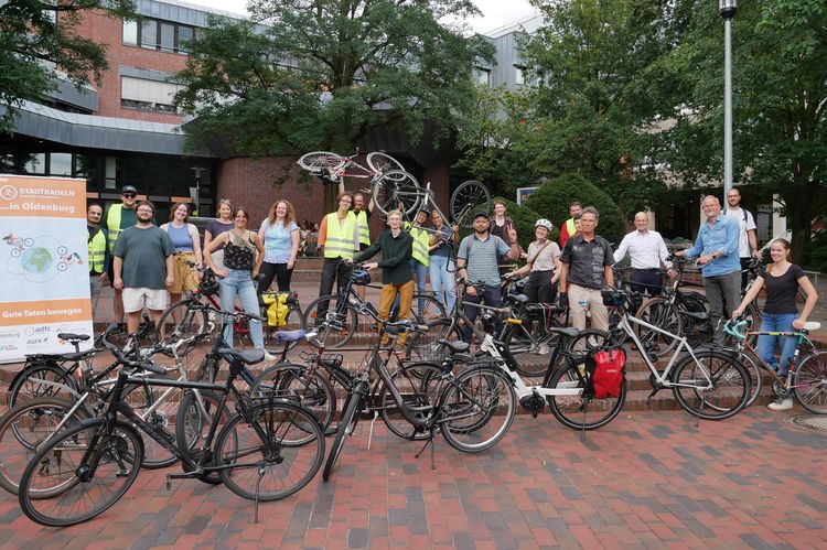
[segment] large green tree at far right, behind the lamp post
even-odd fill
[[[708,2],[686,1],[680,46],[659,65],[673,83],[677,123],[658,157],[684,181],[720,181],[723,29]],[[777,194],[807,262],[812,223],[827,209],[827,4],[756,0],[732,23],[733,179]]]

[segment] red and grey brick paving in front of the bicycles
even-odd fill
[[[722,422],[623,412],[579,433],[518,418],[495,449],[465,455],[441,440],[437,470],[419,444],[377,423],[348,440],[329,483],[261,505],[222,486],[142,472],[93,521],[42,529],[0,495],[0,548],[825,548],[827,434],[752,409]]]

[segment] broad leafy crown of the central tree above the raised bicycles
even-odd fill
[[[253,21],[219,18],[191,46],[176,101],[194,139],[224,136],[239,153],[350,151],[370,129],[426,121],[437,136],[471,104],[482,37],[443,23],[470,0],[255,0]]]

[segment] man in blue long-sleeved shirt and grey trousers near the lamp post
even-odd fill
[[[726,337],[721,322],[724,305],[728,311],[733,311],[741,299],[741,258],[738,256],[741,228],[735,219],[721,214],[721,203],[717,196],[704,197],[701,207],[707,222],[698,229],[695,246],[676,252],[676,256],[698,257],[715,327],[713,341],[717,346],[722,346]]]

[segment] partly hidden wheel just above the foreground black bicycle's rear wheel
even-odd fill
[[[319,371],[309,375],[304,365],[281,363],[265,369],[253,382],[250,392],[272,392],[279,398],[298,399],[302,407],[315,414],[325,430],[336,413],[333,386]]]

